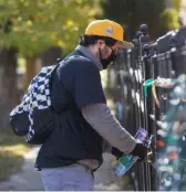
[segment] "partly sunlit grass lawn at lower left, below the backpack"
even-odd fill
[[[0,130],[0,181],[8,180],[11,173],[21,170],[23,154],[30,149],[31,147],[10,129]]]

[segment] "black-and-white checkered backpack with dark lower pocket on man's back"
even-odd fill
[[[41,145],[54,129],[56,116],[51,105],[51,84],[59,64],[46,66],[33,77],[27,93],[10,113],[10,125],[28,143]]]

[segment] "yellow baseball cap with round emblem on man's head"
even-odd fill
[[[131,49],[134,46],[132,43],[124,41],[123,28],[118,23],[111,20],[92,21],[85,30],[85,35],[112,38],[121,42],[121,47],[123,49]]]

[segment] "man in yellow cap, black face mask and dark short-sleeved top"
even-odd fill
[[[37,158],[46,191],[93,190],[93,171],[105,151],[146,157],[146,147],[136,143],[111,114],[101,84],[100,71],[115,61],[120,49],[132,46],[123,41],[123,33],[113,21],[91,22],[53,77],[56,128]]]

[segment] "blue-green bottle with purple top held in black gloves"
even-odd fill
[[[144,142],[147,136],[147,131],[143,128],[140,128],[135,135],[135,139],[137,142]],[[118,158],[118,161],[115,166],[115,174],[117,177],[124,175],[131,167],[137,161],[138,157],[134,157],[132,154],[123,154]]]

